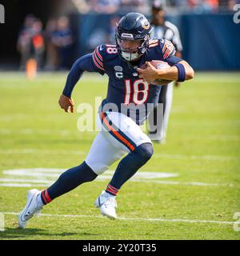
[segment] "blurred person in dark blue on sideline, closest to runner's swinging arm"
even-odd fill
[[[73,33],[70,29],[70,22],[66,16],[58,18],[57,30],[51,34],[51,43],[56,47],[59,54],[59,68],[65,70],[70,67],[73,53]]]

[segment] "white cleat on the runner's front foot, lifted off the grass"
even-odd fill
[[[102,191],[102,194],[98,196],[94,205],[100,209],[100,212],[103,216],[106,216],[110,219],[117,218],[115,210],[115,208],[117,207],[117,202],[115,200],[115,197],[106,193],[104,190]]]

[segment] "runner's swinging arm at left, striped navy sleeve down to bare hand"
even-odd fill
[[[99,46],[98,46],[99,47]],[[72,91],[78,80],[82,77],[84,71],[98,72],[104,74],[102,55],[99,53],[98,47],[94,50],[93,54],[86,54],[81,58],[78,58],[74,65],[70,69],[70,72],[66,78],[66,85],[62,91],[58,103],[59,106],[68,112],[74,112],[74,100],[71,98]]]

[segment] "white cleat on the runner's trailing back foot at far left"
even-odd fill
[[[26,223],[30,220],[30,218],[32,218],[34,215],[38,215],[39,211],[42,209],[42,206],[38,206],[37,201],[38,194],[40,193],[41,191],[35,189],[27,192],[26,206],[18,215],[18,225],[22,229],[26,227]]]

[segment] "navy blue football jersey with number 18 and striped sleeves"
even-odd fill
[[[109,77],[107,95],[102,107],[106,103],[114,103],[119,112],[124,112],[135,122],[142,123],[158,103],[161,86],[143,82],[138,76],[137,68],[152,60],[165,61],[172,66],[181,61],[174,54],[175,48],[170,41],[150,40],[149,50],[140,61],[130,64],[118,55],[116,45],[98,46],[92,54],[95,70]],[[142,113],[139,114],[139,111]]]

